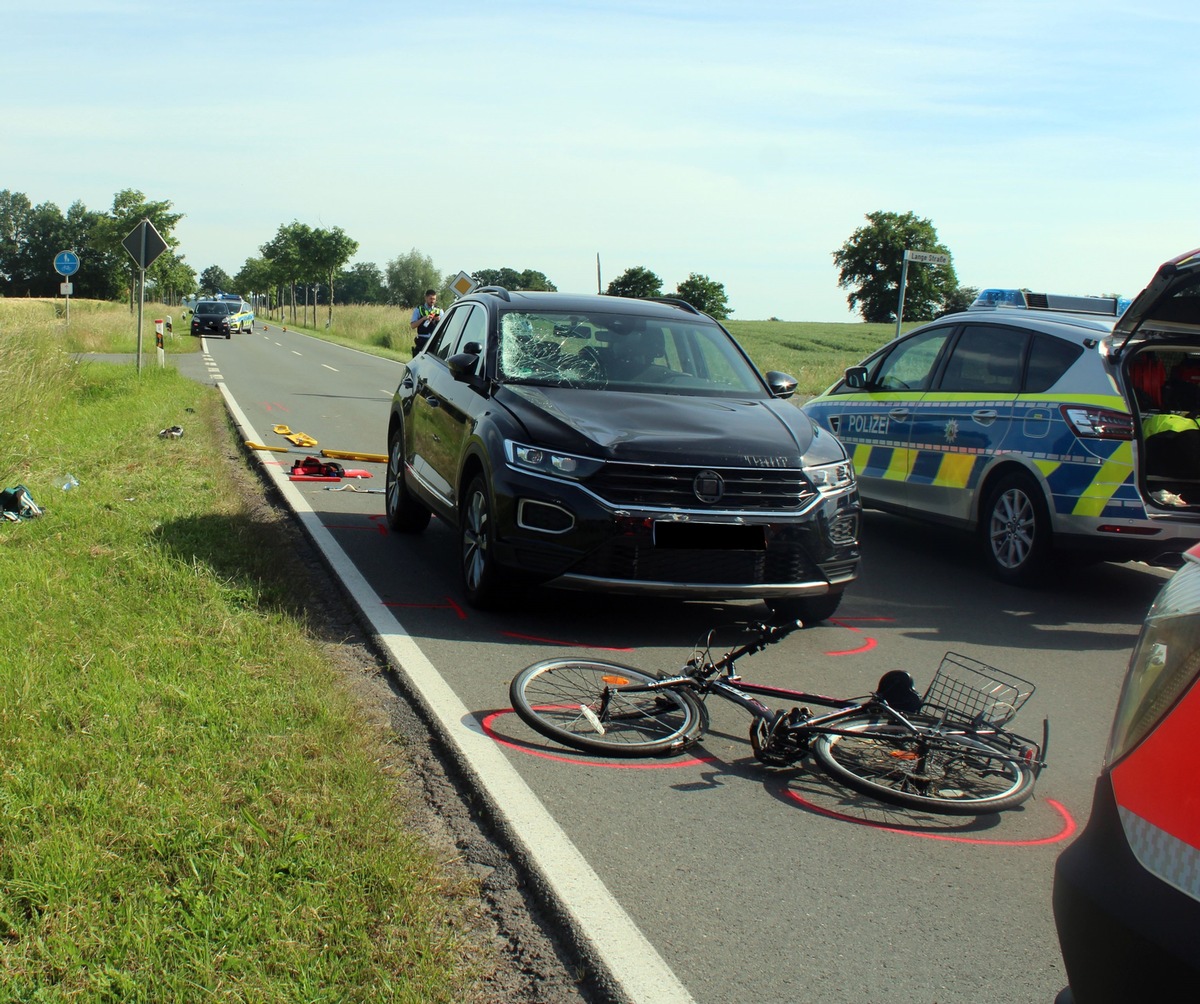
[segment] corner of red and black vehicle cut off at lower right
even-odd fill
[[[1057,1004],[1200,1000],[1200,547],[1150,608],[1087,828],[1055,865]]]

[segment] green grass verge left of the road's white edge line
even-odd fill
[[[0,522],[0,1000],[470,999],[474,888],[402,825],[220,397],[13,302],[0,487],[44,515]]]

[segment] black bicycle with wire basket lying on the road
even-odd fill
[[[1042,743],[1009,732],[1033,693],[1027,680],[947,653],[924,695],[902,669],[883,674],[865,697],[835,698],[751,684],[739,659],[799,627],[757,625],[749,642],[713,660],[715,631],[673,677],[616,662],[548,659],[509,685],[512,709],[542,735],[593,753],[667,756],[696,743],[708,725],[704,698],[716,695],[750,713],[750,743],[764,764],[786,766],[812,753],[836,780],[906,808],[950,816],[1000,812],[1033,794],[1045,766]],[[758,697],[797,702],[775,710]],[[814,714],[808,705],[830,708]]]

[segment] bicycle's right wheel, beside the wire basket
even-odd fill
[[[881,801],[943,816],[1013,808],[1033,794],[1034,775],[1012,754],[970,735],[916,733],[875,715],[838,723],[847,735],[820,735],[812,752],[847,787]]]

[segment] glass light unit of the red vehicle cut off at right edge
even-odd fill
[[[1154,600],[1121,687],[1105,763],[1136,746],[1200,673],[1200,548]]]

